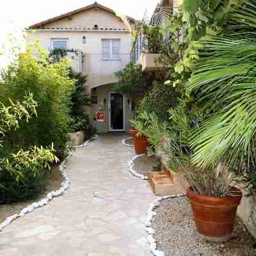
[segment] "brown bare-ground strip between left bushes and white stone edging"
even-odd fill
[[[19,214],[19,212],[22,209],[24,209],[28,205],[33,204],[33,202],[40,201],[49,192],[59,189],[61,187],[61,181],[62,181],[62,175],[58,167],[52,168],[52,171],[47,178],[47,185],[45,186],[45,189],[42,192],[42,195],[38,196],[38,198],[24,201],[24,202],[0,205],[0,223],[9,216],[12,216],[14,214]]]

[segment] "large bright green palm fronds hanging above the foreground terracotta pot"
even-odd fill
[[[194,160],[202,166],[223,158],[237,167],[255,162],[255,49],[252,40],[205,42],[211,58],[198,61],[188,86],[189,90],[200,87],[216,109],[193,141]]]

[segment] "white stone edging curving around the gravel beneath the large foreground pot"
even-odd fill
[[[157,250],[156,240],[153,237],[153,235],[155,234],[155,230],[152,228],[152,220],[153,217],[157,215],[156,212],[154,212],[154,210],[156,209],[156,207],[160,205],[161,201],[168,198],[176,198],[181,196],[185,196],[185,194],[160,196],[152,204],[150,204],[150,207],[147,211],[147,221],[145,223],[145,230],[148,233],[148,243],[150,246],[150,252],[152,252],[154,256],[164,256],[164,252]]]

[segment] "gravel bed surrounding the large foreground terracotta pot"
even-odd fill
[[[152,228],[157,250],[164,256],[255,256],[256,243],[240,220],[234,238],[225,243],[207,242],[195,229],[195,221],[186,196],[161,201],[155,209]]]

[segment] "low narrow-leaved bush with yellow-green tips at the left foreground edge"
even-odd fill
[[[50,170],[49,163],[58,161],[53,146],[47,149],[35,146],[23,150],[6,143],[6,133],[10,130],[18,132],[22,122],[28,123],[32,116],[36,116],[37,107],[32,94],[24,97],[22,103],[9,102],[8,107],[0,103],[0,139],[4,146],[9,146],[9,150],[6,150],[6,147],[0,145],[0,204],[37,196],[45,184],[46,170]]]

